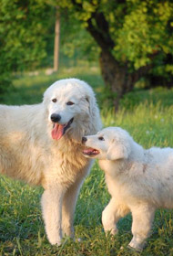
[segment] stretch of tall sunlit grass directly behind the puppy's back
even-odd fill
[[[124,107],[117,113],[103,110],[102,120],[105,126],[126,129],[145,148],[153,145],[173,147],[173,105],[163,107],[160,101],[157,104],[145,101],[131,111]]]

